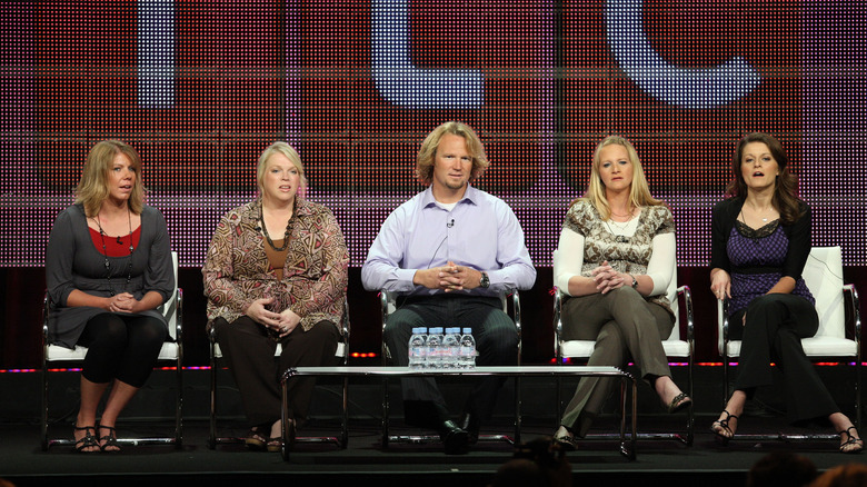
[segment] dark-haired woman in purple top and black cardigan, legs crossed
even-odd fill
[[[771,384],[777,362],[787,390],[789,420],[827,418],[840,451],[864,448],[800,346],[819,326],[801,271],[810,251],[810,209],[796,197],[797,178],[775,138],[750,133],[737,146],[728,198],[714,208],[710,290],[728,299],[733,339],[740,339],[735,391],[711,430],[721,443],[735,436],[744,405]]]

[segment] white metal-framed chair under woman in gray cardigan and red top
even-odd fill
[[[175,436],[166,438],[118,438],[121,445],[175,445],[180,448],[183,441],[181,406],[183,404],[183,291],[178,287],[178,252],[171,252],[175,268],[175,290],[171,299],[157,308],[169,325],[172,341],[162,344],[159,364],[173,366],[176,370]],[[73,439],[48,438],[48,376],[49,366],[81,364],[88,352],[87,347],[77,346],[73,350],[49,342],[48,314],[50,308],[48,292],[42,304],[42,450],[54,445],[74,445]]]

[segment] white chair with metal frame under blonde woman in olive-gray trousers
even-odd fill
[[[554,251],[554,275],[557,275],[557,268],[559,267],[557,250]],[[662,348],[665,349],[668,358],[678,358],[687,360],[687,394],[690,398],[695,399],[692,395],[692,369],[694,369],[694,356],[695,356],[695,342],[694,342],[694,320],[692,320],[692,295],[689,290],[689,286],[677,286],[677,264],[672,269],[672,278],[668,285],[666,291],[668,300],[671,302],[671,311],[675,312],[675,327],[671,329],[671,335],[662,341]],[[560,289],[555,287],[554,294],[554,349],[557,359],[557,364],[561,365],[565,358],[579,359],[586,361],[590,358],[594,351],[595,340],[564,340],[562,337],[562,302],[568,298]],[[686,317],[686,339],[680,335],[680,302],[684,306],[684,316]],[[695,404],[695,402],[694,402]],[[558,421],[560,417],[560,410],[562,408],[560,401],[560,387],[557,387],[557,408],[558,408]],[[686,437],[679,433],[672,434],[638,434],[638,438],[641,439],[677,439],[686,445],[691,446],[695,439],[695,418],[692,411],[692,405],[688,407],[687,414],[687,433]],[[559,426],[559,423],[558,423]],[[635,434],[635,431],[632,431]],[[615,435],[616,436],[616,435]],[[594,438],[610,438],[611,435],[592,434],[587,435],[588,439]]]

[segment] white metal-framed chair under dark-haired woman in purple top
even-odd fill
[[[843,284],[843,250],[840,247],[814,247],[801,274],[813,296],[819,315],[819,329],[810,338],[800,340],[804,352],[814,361],[849,359],[855,361],[855,425],[860,430],[861,420],[861,318],[858,291],[854,285]],[[848,305],[849,329],[846,324]],[[740,356],[740,340],[729,339],[728,301],[717,304],[717,346],[722,356],[722,404],[728,400],[729,361]],[[831,439],[838,435],[743,435],[736,439]]]

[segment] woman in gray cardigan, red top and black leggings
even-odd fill
[[[157,362],[168,337],[156,309],[175,288],[166,220],[143,203],[141,159],[117,140],[90,150],[76,202],[51,228],[46,280],[49,339],[88,347],[76,449],[119,451],[114,423]],[[97,427],[97,407],[113,382]]]

